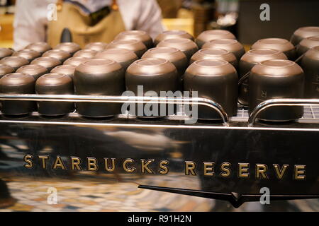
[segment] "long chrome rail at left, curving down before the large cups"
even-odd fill
[[[103,96],[103,95],[38,95],[38,94],[0,94],[0,100],[24,101],[55,101],[55,102],[108,102],[108,103],[153,103],[153,104],[179,104],[203,105],[211,107],[223,119],[223,125],[228,126],[228,115],[213,100],[200,97],[139,97],[139,96]]]

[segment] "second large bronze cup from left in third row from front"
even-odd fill
[[[162,40],[162,42],[159,42],[159,44],[157,44],[157,47],[177,48],[181,50],[181,52],[184,52],[188,60],[191,59],[191,56],[193,56],[193,54],[196,53],[198,50],[196,43],[187,38]]]

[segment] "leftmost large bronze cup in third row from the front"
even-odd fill
[[[132,50],[138,58],[142,57],[147,50],[145,44],[138,40],[113,40],[106,49],[119,48]]]

